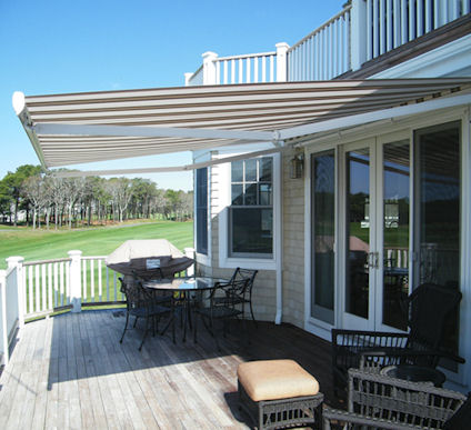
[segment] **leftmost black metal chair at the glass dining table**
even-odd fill
[[[141,351],[150,329],[150,323],[152,323],[153,334],[156,334],[160,317],[169,313],[170,308],[162,306],[162,298],[157,297],[153,291],[143,288],[140,281],[133,280],[126,282],[122,278],[119,280],[121,282],[121,292],[126,296],[126,324],[120,343],[122,343],[126,331],[128,330],[129,317],[132,316],[136,318],[134,328],[138,319],[143,318],[146,320],[146,328],[139,347],[139,351]]]

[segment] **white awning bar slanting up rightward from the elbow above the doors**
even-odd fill
[[[359,113],[350,117],[342,117],[322,122],[315,122],[305,126],[292,127],[280,131],[280,139],[287,140],[299,138],[304,134],[314,134],[321,131],[329,131],[333,129],[343,129],[353,126],[360,126],[368,122],[392,119],[398,117],[405,117],[409,114],[424,113],[432,110],[451,108],[460,104],[471,103],[471,94],[462,94],[454,97],[440,98],[421,103],[400,106],[397,108],[382,109],[369,113]]]

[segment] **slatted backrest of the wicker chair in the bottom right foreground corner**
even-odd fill
[[[349,370],[349,412],[400,424],[441,429],[467,400],[465,396],[358,369]],[[469,422],[469,421],[468,421]],[[373,426],[371,426],[373,427]]]

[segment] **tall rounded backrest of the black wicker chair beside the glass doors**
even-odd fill
[[[460,300],[461,292],[455,288],[433,283],[419,286],[408,299],[408,348],[442,349],[447,318],[458,310]]]

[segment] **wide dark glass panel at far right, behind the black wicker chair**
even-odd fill
[[[415,132],[415,287],[460,288],[460,122]],[[449,319],[447,347],[458,350],[458,312]]]

